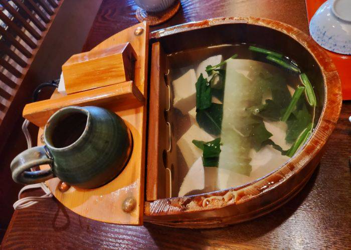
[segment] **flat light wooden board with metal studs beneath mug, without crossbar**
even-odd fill
[[[142,32],[135,34],[135,30],[140,28]],[[147,96],[148,34],[147,24],[139,23],[109,37],[93,48],[101,49],[129,41],[138,58],[135,62],[134,82],[144,96]],[[55,92],[51,99],[59,97],[61,95]],[[109,223],[141,225],[144,212],[146,105],[145,102],[141,102],[139,106],[120,110],[119,106],[110,102],[104,103],[103,107],[121,116],[132,133],[133,151],[125,168],[111,182],[98,188],[80,189],[71,186],[66,192],[61,192],[58,189],[60,183],[58,178],[50,179],[46,184],[63,205],[79,215]],[[39,130],[38,145],[42,144],[40,140],[42,134],[43,127]],[[49,166],[41,166],[42,169],[47,167]],[[136,206],[131,212],[125,212],[122,204],[130,197],[136,201]]]

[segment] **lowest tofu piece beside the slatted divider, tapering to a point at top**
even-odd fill
[[[185,176],[178,196],[182,197],[187,193],[194,190],[202,190],[205,187],[205,171],[200,156],[194,164],[190,167],[187,175]]]

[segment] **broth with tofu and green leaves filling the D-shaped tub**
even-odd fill
[[[168,58],[179,196],[260,178],[311,134],[313,88],[282,54],[242,43]]]

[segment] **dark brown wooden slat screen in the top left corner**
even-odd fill
[[[61,1],[0,0],[0,131]]]

